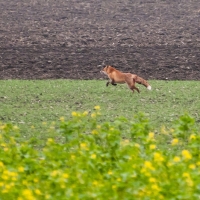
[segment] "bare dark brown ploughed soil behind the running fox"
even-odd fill
[[[200,80],[199,0],[1,0],[0,79]]]

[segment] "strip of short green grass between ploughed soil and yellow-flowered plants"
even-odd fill
[[[92,112],[99,105],[101,121],[119,116],[133,119],[142,112],[159,129],[188,113],[199,124],[198,81],[149,82],[152,91],[138,85],[141,93],[133,94],[126,85],[106,87],[106,80],[1,80],[0,121],[17,125],[22,138],[37,136],[37,132],[50,127],[49,132],[37,136],[45,139],[51,135],[51,124],[60,117],[67,120],[72,111]]]

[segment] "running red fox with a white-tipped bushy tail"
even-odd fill
[[[100,72],[107,75],[110,79],[106,83],[106,86],[108,86],[110,83],[115,86],[117,85],[117,83],[126,83],[133,92],[134,90],[137,90],[137,92],[139,93],[140,90],[135,87],[135,83],[138,83],[144,85],[148,90],[151,90],[151,86],[149,85],[149,83],[143,78],[137,76],[136,74],[122,73],[121,71],[115,69],[110,65],[105,66]]]

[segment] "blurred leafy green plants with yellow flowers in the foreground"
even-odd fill
[[[63,140],[48,138],[42,149],[1,124],[0,199],[200,198],[200,131],[191,116],[155,132],[143,114],[101,122],[100,112],[61,117],[54,133]]]

